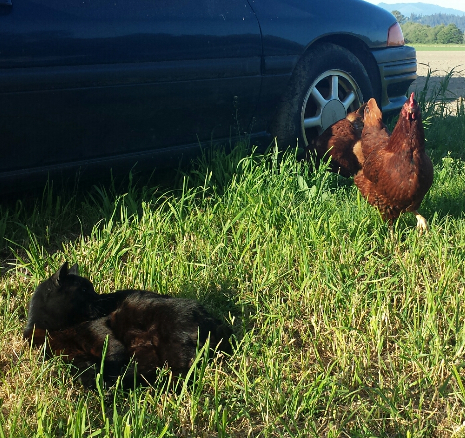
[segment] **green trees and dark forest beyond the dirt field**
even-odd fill
[[[397,21],[402,27],[404,39],[406,43],[410,44],[465,44],[465,34],[460,29],[456,22],[461,24],[461,21],[452,22],[451,17],[464,19],[456,15],[448,14],[434,14],[426,16],[418,16],[411,14],[410,18],[402,15],[398,10],[393,10],[392,14],[396,17]],[[443,17],[444,19],[439,24],[438,20]],[[447,19],[446,19],[447,17]],[[421,23],[418,22],[421,20]],[[449,21],[446,23],[446,21]],[[427,24],[431,23],[431,24]],[[465,23],[464,23],[465,24]]]

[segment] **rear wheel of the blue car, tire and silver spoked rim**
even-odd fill
[[[298,61],[270,132],[280,148],[296,142],[305,147],[371,97],[373,88],[358,58],[336,44],[319,44]]]

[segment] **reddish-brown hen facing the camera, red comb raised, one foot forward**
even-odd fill
[[[425,153],[420,107],[413,97],[412,93],[402,107],[392,134],[382,122],[376,101],[368,101],[361,138],[364,158],[354,182],[385,220],[412,212],[417,228],[427,230],[426,219],[417,209],[433,183],[433,164]]]

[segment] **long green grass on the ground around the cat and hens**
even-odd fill
[[[423,236],[405,214],[391,238],[347,180],[244,144],[168,186],[47,187],[1,206],[0,437],[450,437],[465,404],[465,109],[422,108]],[[198,298],[233,323],[233,357],[200,352],[177,392],[84,391],[21,338],[64,260],[102,293]]]

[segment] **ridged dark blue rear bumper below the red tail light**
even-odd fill
[[[407,100],[410,84],[417,78],[417,54],[410,46],[392,47],[371,52],[378,63],[381,78],[383,115],[399,112]]]

